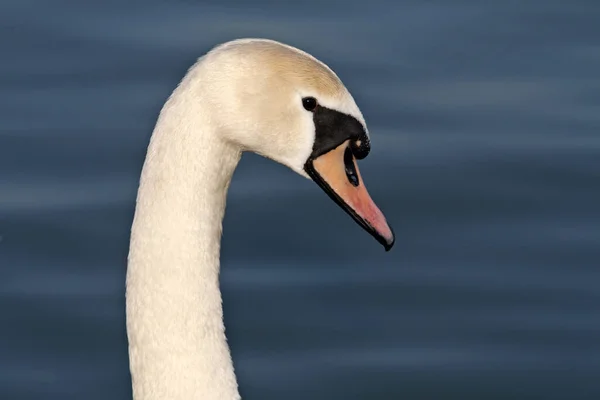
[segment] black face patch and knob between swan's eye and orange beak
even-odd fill
[[[363,159],[371,150],[364,126],[353,116],[317,105],[313,112],[315,143],[310,159],[338,147],[350,139],[354,157]]]

